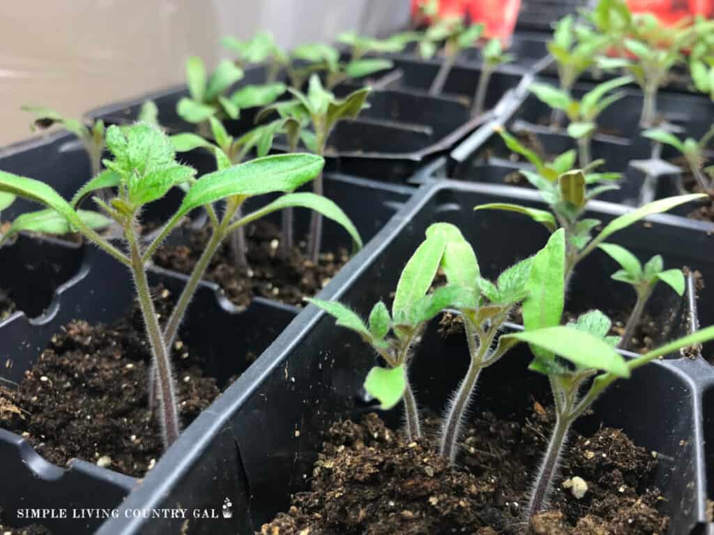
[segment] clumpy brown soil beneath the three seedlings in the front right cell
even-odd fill
[[[537,403],[524,422],[484,412],[464,434],[458,466],[448,466],[433,441],[409,443],[376,414],[333,424],[311,490],[293,496],[289,511],[260,534],[662,534],[663,497],[649,486],[657,460],[609,428],[574,434],[549,509],[528,528],[528,486],[553,420]],[[587,484],[580,499],[568,490],[576,476]]]

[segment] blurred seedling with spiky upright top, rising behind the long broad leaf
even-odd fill
[[[348,94],[344,99],[336,99],[331,91],[323,87],[319,76],[313,74],[310,77],[307,94],[293,88],[288,89],[288,91],[295,97],[294,100],[269,106],[258,114],[256,120],[260,121],[263,117],[273,112],[296,117],[298,124],[302,124],[303,118],[308,118],[314,136],[308,135],[306,131],[301,131],[299,135],[303,142],[306,143],[308,150],[323,156],[327,139],[332,129],[338,121],[354,119],[360,114],[360,111],[365,106],[370,89],[358,89]],[[288,136],[288,139],[296,141],[298,137],[297,135],[292,138]],[[323,195],[321,174],[313,181],[313,192],[317,195]],[[308,250],[310,258],[315,263],[317,263],[320,256],[321,244],[322,216],[313,214],[310,224]]]

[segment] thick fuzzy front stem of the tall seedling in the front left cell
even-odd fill
[[[159,381],[157,381],[157,386],[159,386],[157,397],[160,405],[161,435],[164,440],[164,447],[168,449],[178,439],[178,434],[181,432],[178,423],[178,404],[176,403],[171,360],[169,359],[169,351],[166,348],[164,336],[161,334],[161,326],[156,315],[156,309],[154,309],[154,301],[151,299],[149,281],[146,279],[144,261],[142,261],[141,253],[139,252],[139,242],[136,238],[133,221],[126,225],[124,234],[129,242],[131,273],[134,275],[139,307],[141,308],[142,316],[144,316],[146,335],[149,337],[151,354],[154,357],[153,361],[156,367],[156,376],[159,378]],[[149,376],[150,381],[151,379],[151,376]]]

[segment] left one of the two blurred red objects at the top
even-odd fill
[[[419,15],[419,6],[428,0],[412,0],[411,13]],[[481,22],[486,37],[498,37],[501,42],[511,41],[513,29],[516,27],[521,0],[441,0],[439,14],[441,16],[470,16],[471,22]]]

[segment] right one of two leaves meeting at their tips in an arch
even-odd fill
[[[476,308],[478,292],[476,281],[481,276],[478,261],[473,247],[466,241],[457,226],[451,223],[435,223],[426,229],[427,238],[434,234],[441,234],[446,242],[441,269],[446,275],[448,284],[458,286],[465,294],[463,301],[471,308]]]

